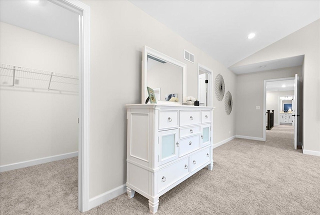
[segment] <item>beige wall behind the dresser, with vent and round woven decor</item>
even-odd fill
[[[126,103],[141,101],[142,46],[186,63],[187,95],[197,96],[198,63],[224,77],[236,99],[235,75],[129,1],[83,1],[90,6],[90,173],[92,198],[125,183]],[[195,63],[183,59],[187,49]],[[122,80],[122,81],[114,81]],[[214,93],[213,93],[214,94]],[[213,142],[235,135],[235,106],[226,115],[213,97]],[[228,132],[230,131],[230,133]]]

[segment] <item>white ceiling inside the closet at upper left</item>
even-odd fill
[[[0,21],[78,44],[78,14],[47,0],[0,0]]]

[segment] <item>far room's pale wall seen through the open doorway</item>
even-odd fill
[[[279,100],[279,96],[285,96],[285,95],[293,95],[293,91],[271,91],[266,92],[266,110],[274,110],[274,117],[273,117],[273,123],[279,124],[279,111],[281,111],[281,103],[282,101]],[[286,103],[292,103],[292,100]],[[283,105],[282,105],[283,107]]]

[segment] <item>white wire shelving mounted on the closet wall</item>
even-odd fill
[[[78,93],[75,75],[0,63],[0,86]]]

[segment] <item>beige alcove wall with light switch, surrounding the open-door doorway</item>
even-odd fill
[[[294,77],[302,74],[301,66],[240,74],[236,86],[236,134],[263,137],[263,80]],[[260,109],[255,109],[260,106]]]

